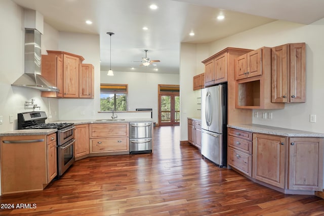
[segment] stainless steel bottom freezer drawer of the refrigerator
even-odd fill
[[[201,154],[209,160],[213,161],[220,167],[226,164],[223,161],[223,135],[201,129]]]

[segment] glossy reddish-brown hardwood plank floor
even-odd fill
[[[154,153],[76,161],[44,191],[3,195],[1,215],[324,215],[324,200],[285,195],[219,168],[187,144],[179,126],[154,127]],[[3,206],[3,205],[2,205]]]

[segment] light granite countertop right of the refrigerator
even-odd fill
[[[288,129],[282,127],[267,126],[261,124],[228,124],[227,127],[234,129],[240,129],[242,131],[271,134],[284,137],[321,137],[324,138],[324,134],[308,131],[299,131],[296,129]]]

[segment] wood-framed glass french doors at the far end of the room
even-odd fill
[[[176,93],[160,93],[158,97],[158,124],[180,124],[180,96]]]

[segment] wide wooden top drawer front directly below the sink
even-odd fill
[[[129,136],[129,123],[90,124],[91,138],[124,136]]]

